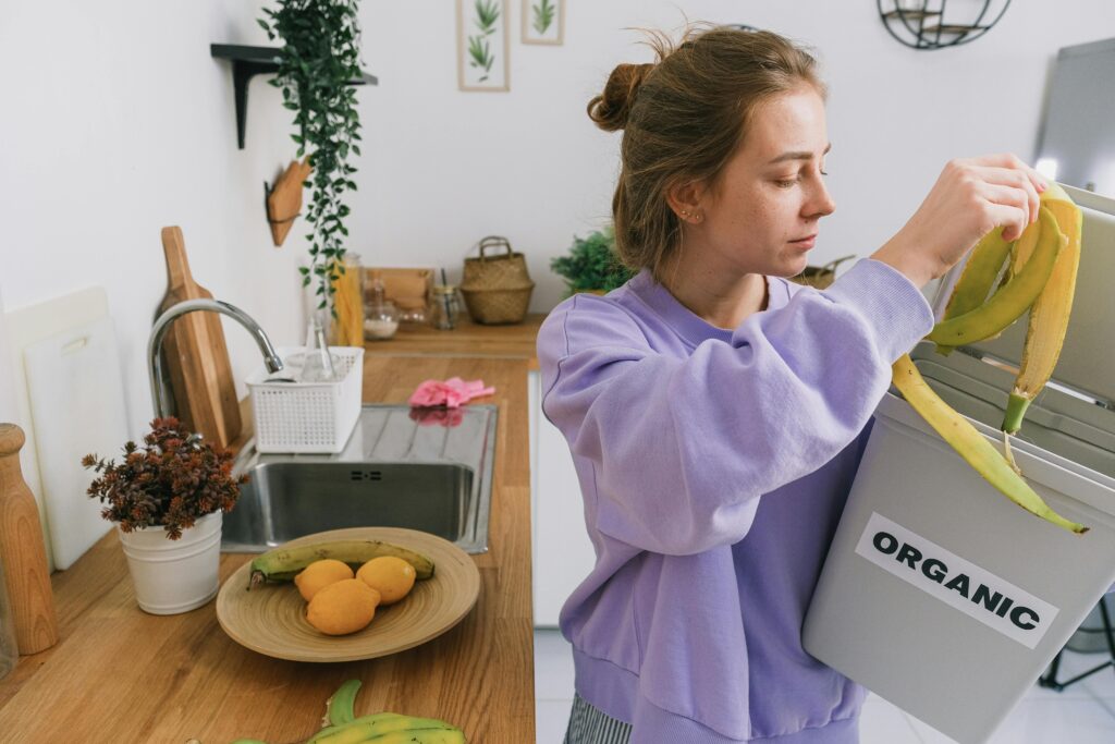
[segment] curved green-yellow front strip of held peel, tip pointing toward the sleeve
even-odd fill
[[[981,341],[1002,332],[1026,312],[1041,293],[1066,242],[1057,219],[1047,207],[1041,207],[1038,221],[1029,225],[1026,233],[1031,233],[1030,240],[1036,240],[1037,247],[1007,286],[979,307],[937,323],[927,337],[929,340],[941,347]]]

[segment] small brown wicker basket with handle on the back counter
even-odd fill
[[[488,235],[479,243],[479,258],[465,259],[460,294],[475,322],[488,326],[522,322],[531,305],[534,282],[522,253],[511,250],[506,238]],[[492,249],[502,255],[487,255]]]

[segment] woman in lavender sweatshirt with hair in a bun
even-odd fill
[[[856,742],[864,690],[803,650],[809,597],[891,364],[932,327],[920,288],[1020,234],[1045,184],[1010,155],[950,162],[870,259],[798,287],[835,207],[814,60],[728,29],[658,52],[589,105],[624,131],[615,238],[639,273],[539,336],[597,553],[561,615],[566,742]]]

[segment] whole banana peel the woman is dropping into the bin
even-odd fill
[[[1049,381],[1068,330],[1080,264],[1083,218],[1068,194],[1050,184],[1038,220],[1014,242],[993,230],[972,249],[944,317],[927,337],[941,354],[995,338],[1029,310],[1021,365],[1001,425],[1000,453],[929,387],[910,355],[894,363],[894,386],[925,422],[996,489],[1022,509],[1076,533],[1087,528],[1053,511],[1026,483],[1010,455],[1030,402]],[[1001,278],[1000,278],[1001,277]],[[990,297],[989,297],[990,296]]]

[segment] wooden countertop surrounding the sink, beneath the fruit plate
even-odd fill
[[[139,610],[115,530],[51,577],[59,642],[0,679],[6,743],[300,742],[326,699],[363,682],[357,714],[395,711],[460,726],[469,742],[534,741],[526,371],[541,316],[520,326],[416,330],[368,345],[365,400],[405,402],[418,383],[483,378],[500,409],[488,533],[474,557],[476,607],[445,635],[392,656],[345,664],[273,659],[233,642],[215,602],[174,616]],[[224,581],[250,555],[223,553]]]

